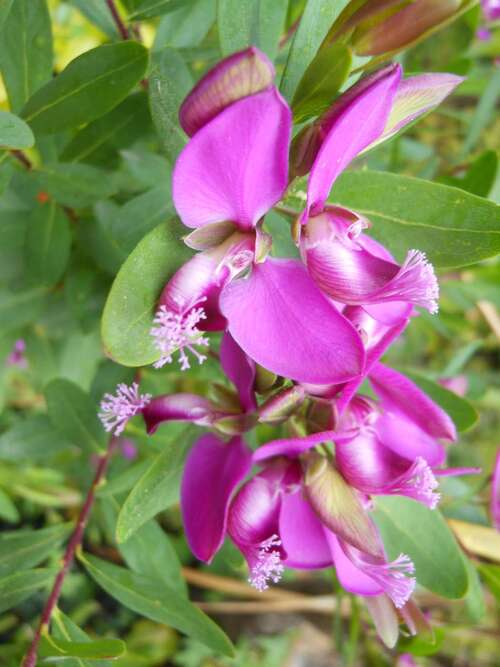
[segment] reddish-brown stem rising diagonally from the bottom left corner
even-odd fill
[[[73,563],[73,560],[75,558],[75,552],[82,543],[85,527],[89,519],[90,511],[94,504],[96,489],[104,479],[104,475],[106,474],[109,460],[111,458],[115,446],[116,446],[116,438],[112,436],[109,439],[107,450],[104,452],[104,454],[101,454],[101,456],[99,457],[99,462],[97,464],[94,480],[87,493],[87,497],[85,498],[83,507],[80,510],[80,514],[78,516],[78,521],[76,523],[75,529],[70,537],[70,540],[66,547],[66,551],[64,552],[62,567],[59,570],[57,577],[54,580],[52,591],[50,592],[47,602],[45,603],[45,607],[43,608],[42,615],[40,617],[40,622],[38,624],[33,640],[28,649],[28,652],[26,653],[24,660],[21,663],[21,667],[35,667],[36,665],[38,644],[40,643],[42,633],[49,626],[50,619],[52,617],[52,612],[54,611],[54,608],[57,605],[57,601],[59,600],[59,596],[61,594],[61,589],[63,587],[64,579],[66,578],[66,575],[68,574],[69,569]]]

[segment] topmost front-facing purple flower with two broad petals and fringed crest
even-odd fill
[[[196,350],[206,347],[202,330],[227,327],[252,359],[277,374],[347,381],[363,370],[356,330],[301,262],[267,256],[271,239],[261,224],[288,184],[291,112],[259,54],[251,49],[218,65],[183,107],[184,121],[191,112],[196,117],[188,122],[195,134],[175,165],[173,199],[182,222],[194,230],[186,242],[201,252],[160,297],[152,329],[161,352],[157,365],[169,362],[175,349],[182,368],[189,367],[186,352],[202,361]],[[224,88],[228,71],[242,77],[232,91]],[[235,91],[247,96],[233,101]],[[200,95],[211,102],[196,115]]]

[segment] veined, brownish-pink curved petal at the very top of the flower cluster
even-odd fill
[[[198,81],[179,110],[179,121],[190,137],[227,106],[268,88],[274,79],[272,62],[255,46],[224,58]]]

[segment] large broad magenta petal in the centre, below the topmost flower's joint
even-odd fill
[[[268,258],[221,293],[220,308],[243,350],[264,368],[299,382],[360,375],[361,339],[297,260]]]

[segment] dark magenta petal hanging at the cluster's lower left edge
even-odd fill
[[[186,537],[194,555],[210,562],[226,533],[231,496],[248,474],[251,452],[241,438],[202,436],[189,453],[181,485]]]

